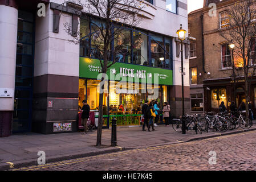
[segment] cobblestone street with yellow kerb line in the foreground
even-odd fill
[[[255,170],[256,131],[14,170]],[[217,164],[209,164],[210,151]]]

